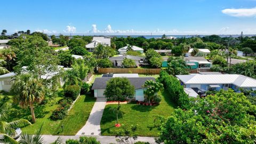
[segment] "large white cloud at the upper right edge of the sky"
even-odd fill
[[[255,17],[256,7],[251,9],[225,9],[221,12],[232,17]]]

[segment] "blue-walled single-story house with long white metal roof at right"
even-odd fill
[[[209,91],[220,89],[228,90],[233,89],[239,92],[239,88],[247,90],[256,90],[256,79],[237,75],[237,74],[224,74],[224,75],[177,75],[176,76],[184,88],[197,88],[201,91]]]

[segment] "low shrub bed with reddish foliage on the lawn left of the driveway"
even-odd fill
[[[67,113],[68,109],[72,103],[71,99],[61,99],[59,102],[59,105],[53,112],[50,118],[52,120],[58,120],[58,119],[63,119]]]

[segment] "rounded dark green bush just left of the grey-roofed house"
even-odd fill
[[[68,85],[64,89],[64,96],[66,98],[71,98],[75,100],[81,91],[81,87],[79,85]]]

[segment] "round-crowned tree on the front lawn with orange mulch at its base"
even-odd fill
[[[126,100],[126,98],[134,97],[134,86],[131,85],[129,79],[124,77],[114,77],[107,82],[106,90],[104,95],[108,101],[118,101],[118,106],[115,108],[114,113],[116,114],[116,126],[120,126],[118,122],[118,115],[121,115],[120,101]]]

